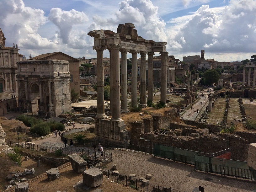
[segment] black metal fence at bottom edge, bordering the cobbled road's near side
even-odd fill
[[[160,185],[156,186],[153,184],[149,184],[145,181],[138,180],[127,175],[116,174],[113,171],[104,168],[102,168],[102,173],[116,183],[120,183],[122,185],[129,186],[133,189],[144,192],[181,192],[172,188],[165,188]]]

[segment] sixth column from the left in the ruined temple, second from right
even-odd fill
[[[148,100],[153,101],[153,55],[154,52],[149,52],[148,55]]]

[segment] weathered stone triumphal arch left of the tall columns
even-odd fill
[[[17,82],[19,110],[54,117],[70,111],[68,61],[19,61]]]

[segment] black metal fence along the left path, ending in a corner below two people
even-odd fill
[[[77,149],[72,147],[48,147],[41,146],[36,144],[31,144],[27,142],[13,142],[11,140],[6,139],[6,144],[12,147],[21,147],[25,149],[31,149],[40,152],[46,153],[55,153],[57,155],[71,155],[73,153],[77,153],[80,156],[93,158],[95,161],[92,165],[97,165],[98,167],[102,167],[103,165],[108,164],[112,161],[112,153],[111,152],[103,152],[103,156],[101,156],[98,151],[94,151],[91,149]]]

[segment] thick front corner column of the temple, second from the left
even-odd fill
[[[110,72],[112,72],[111,80],[111,102],[112,102],[112,121],[121,121],[120,109],[120,59],[119,49],[120,46],[113,44],[108,45],[111,49],[111,65]]]

